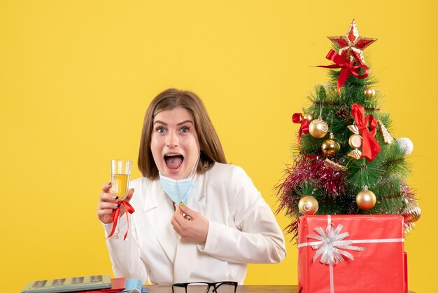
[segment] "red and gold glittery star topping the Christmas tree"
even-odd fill
[[[339,55],[345,57],[348,62],[358,64],[365,64],[362,50],[377,41],[374,38],[359,36],[355,20],[351,22],[350,29],[344,36],[327,36],[327,38],[339,48]]]

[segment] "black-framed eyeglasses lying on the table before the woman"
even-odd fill
[[[237,282],[180,282],[172,285],[172,293],[209,293],[210,288],[213,288],[212,293],[236,293]]]

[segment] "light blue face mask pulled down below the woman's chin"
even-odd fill
[[[201,154],[198,155],[198,158],[195,161],[195,165],[193,166],[192,172],[190,172],[189,177],[185,179],[171,179],[169,177],[163,176],[161,172],[158,172],[158,174],[160,175],[161,186],[164,192],[167,193],[167,195],[171,198],[171,200],[174,201],[174,203],[176,203],[176,205],[181,205],[181,203],[183,203],[183,205],[187,204],[193,186],[195,186],[195,184],[193,183],[193,177],[195,177],[195,171],[200,156]]]

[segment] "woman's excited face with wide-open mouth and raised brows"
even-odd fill
[[[150,150],[165,177],[185,179],[199,156],[199,140],[192,114],[177,107],[161,111],[153,121]]]

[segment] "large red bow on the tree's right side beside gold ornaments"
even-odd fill
[[[376,141],[377,119],[372,114],[365,117],[365,109],[360,104],[354,103],[351,106],[351,115],[362,134],[362,156],[371,162],[380,151],[379,142]]]

